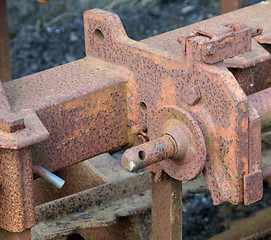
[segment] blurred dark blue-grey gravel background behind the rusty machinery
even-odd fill
[[[244,0],[242,6],[257,2]],[[117,13],[128,36],[141,40],[219,15],[220,1],[7,0],[13,79],[83,58],[82,14],[92,8]],[[270,205],[268,184],[263,200],[249,207],[214,207],[209,194],[191,194],[184,202],[184,239],[208,239]]]

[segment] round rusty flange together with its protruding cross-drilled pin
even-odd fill
[[[205,140],[188,112],[176,106],[159,109],[152,117],[149,132],[152,141],[123,154],[125,169],[135,171],[149,166],[156,173],[155,180],[162,170],[181,181],[191,180],[202,172],[206,162]],[[154,163],[157,164],[153,166]]]

